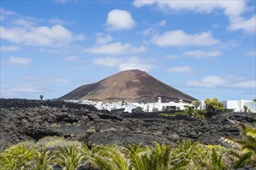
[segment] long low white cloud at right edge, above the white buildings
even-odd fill
[[[245,80],[238,75],[206,76],[201,80],[191,80],[186,83],[189,87],[233,87],[242,89],[255,89],[255,80]]]

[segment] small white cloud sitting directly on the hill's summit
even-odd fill
[[[150,63],[122,63],[119,65],[120,70],[143,70],[149,71],[154,69],[154,65]]]

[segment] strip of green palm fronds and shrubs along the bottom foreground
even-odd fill
[[[177,145],[92,145],[47,137],[25,141],[0,153],[0,169],[89,168],[120,170],[229,169],[256,166],[256,129],[240,124],[241,139],[225,138],[223,146],[181,141]]]

